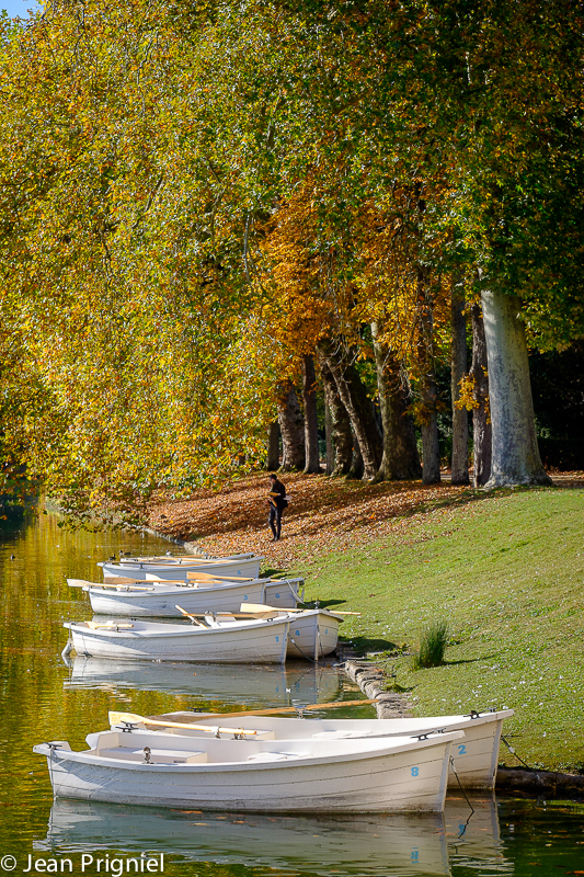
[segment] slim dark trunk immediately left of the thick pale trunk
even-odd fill
[[[489,417],[489,377],[486,341],[480,305],[473,305],[472,315],[472,364],[470,375],[474,378],[474,402],[472,409],[473,487],[484,487],[491,477],[491,420]]]

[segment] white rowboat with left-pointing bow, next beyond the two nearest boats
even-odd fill
[[[78,654],[116,660],[203,661],[205,663],[284,663],[287,618],[218,628],[134,624],[131,630],[91,629],[67,622]],[[163,628],[167,628],[164,630]]]

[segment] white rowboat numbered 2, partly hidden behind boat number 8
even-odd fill
[[[307,714],[308,715],[308,714]],[[434,716],[406,719],[298,719],[253,716],[244,719],[242,714],[220,716],[222,726],[239,727],[247,721],[261,731],[271,731],[276,740],[348,740],[380,737],[411,736],[427,733],[438,729],[463,731],[465,739],[453,745],[453,764],[449,766],[448,784],[458,788],[492,789],[496,777],[499,745],[503,721],[513,716],[513,709],[489,713],[471,713],[467,716]],[[208,717],[192,713],[170,713],[170,721],[197,721],[201,725],[215,725],[219,716]],[[148,727],[147,725],[144,727]],[[182,731],[182,733],[187,733]]]

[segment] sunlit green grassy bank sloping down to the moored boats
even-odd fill
[[[360,611],[343,635],[396,673],[417,715],[507,706],[529,765],[584,771],[584,489],[491,494],[402,521],[366,548],[298,558],[307,594]],[[446,619],[445,663],[412,669]],[[501,763],[517,764],[504,747]]]

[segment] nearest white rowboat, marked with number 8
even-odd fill
[[[444,808],[450,744],[426,739],[197,739],[148,731],[89,734],[90,749],[42,743],[56,797],[264,812],[391,812]]]

